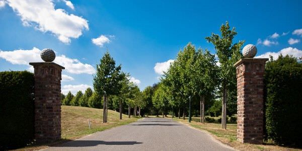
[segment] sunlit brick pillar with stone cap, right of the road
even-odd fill
[[[263,142],[263,74],[267,58],[242,58],[237,73],[237,139]]]

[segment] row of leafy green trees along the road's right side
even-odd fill
[[[244,41],[233,43],[237,32],[235,28],[230,29],[228,22],[220,27],[220,32],[220,35],[212,33],[205,38],[214,45],[216,55],[207,49],[196,49],[193,44],[187,44],[179,51],[156,89],[151,92],[147,87],[143,91],[148,93],[144,95],[144,100],[152,100],[153,107],[161,111],[163,116],[173,111],[180,117],[182,110],[183,118],[191,104],[193,110],[199,108],[202,123],[205,110],[217,115],[221,107],[221,127],[226,129],[224,119],[227,106],[229,116],[236,113],[236,68],[233,65],[242,57],[240,50]],[[215,57],[219,59],[219,65]]]

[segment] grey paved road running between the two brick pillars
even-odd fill
[[[233,150],[210,135],[166,118],[145,118],[45,150]]]

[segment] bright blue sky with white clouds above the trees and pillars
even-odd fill
[[[205,37],[219,33],[225,21],[236,27],[235,41],[257,46],[257,56],[301,57],[301,6],[302,1],[0,0],[0,71],[32,70],[28,62],[40,61],[40,50],[51,48],[55,62],[66,67],[63,92],[74,93],[93,85],[95,65],[108,49],[142,90],[158,82],[167,61],[188,42],[215,53]]]

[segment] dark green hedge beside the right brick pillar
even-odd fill
[[[302,144],[302,63],[279,56],[265,67],[266,139],[280,145]]]

